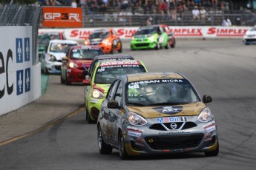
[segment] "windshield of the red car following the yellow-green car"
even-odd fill
[[[96,55],[104,55],[99,49],[73,49],[71,52],[72,59],[93,59]]]

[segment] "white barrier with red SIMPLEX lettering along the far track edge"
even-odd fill
[[[122,39],[129,39],[139,27],[112,27]],[[173,27],[169,26],[177,38],[243,38],[244,33],[251,27]],[[68,29],[39,29],[39,33],[47,31],[63,31],[68,39],[79,41],[88,38],[93,30],[105,28],[68,28]]]

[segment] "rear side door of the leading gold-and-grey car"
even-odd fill
[[[113,144],[113,139],[112,139],[112,135],[113,132],[111,132],[111,129],[113,129],[111,127],[111,122],[114,121],[113,120],[113,116],[111,115],[111,110],[108,108],[108,101],[111,101],[114,99],[114,93],[116,92],[116,86],[119,84],[119,80],[114,81],[113,84],[111,84],[110,88],[108,89],[108,94],[106,96],[105,101],[102,102],[102,110],[101,112],[102,114],[102,118],[100,119],[100,123],[102,126],[102,135],[104,135],[105,137],[107,137],[108,143],[112,143]]]

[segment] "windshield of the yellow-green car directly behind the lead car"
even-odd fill
[[[120,75],[146,72],[142,65],[114,65],[98,67],[96,69],[94,84],[111,84]]]

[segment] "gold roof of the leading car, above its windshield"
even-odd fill
[[[128,82],[132,81],[146,81],[146,80],[158,80],[164,78],[171,78],[171,79],[184,79],[185,77],[178,72],[144,72],[144,73],[137,73],[127,76]]]

